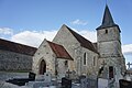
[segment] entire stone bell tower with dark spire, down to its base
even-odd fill
[[[99,64],[103,67],[102,78],[119,81],[125,69],[121,51],[120,28],[114,23],[108,6],[106,6],[102,23],[97,28]]]

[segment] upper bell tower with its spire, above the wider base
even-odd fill
[[[120,56],[121,40],[120,29],[113,22],[108,6],[106,6],[102,24],[97,28],[98,52],[100,57]]]

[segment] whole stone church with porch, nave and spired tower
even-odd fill
[[[64,24],[52,42],[42,42],[33,56],[32,70],[41,75],[51,72],[52,76],[75,72],[77,76],[118,82],[124,76],[125,58],[121,51],[121,30],[108,6],[96,31],[97,42],[92,43]]]

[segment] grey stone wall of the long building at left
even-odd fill
[[[31,70],[32,56],[0,51],[0,70]]]

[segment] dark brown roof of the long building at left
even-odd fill
[[[0,38],[0,50],[33,56],[37,48]]]

